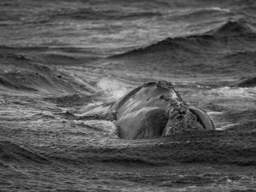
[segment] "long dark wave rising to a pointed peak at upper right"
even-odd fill
[[[156,44],[151,44],[139,49],[132,49],[123,54],[112,55],[110,58],[124,55],[152,54],[165,50],[172,50],[172,55],[177,55],[177,53],[183,55],[198,55],[199,51],[204,52],[206,48],[219,49],[219,46],[227,44],[227,41],[239,41],[237,38],[250,38],[249,40],[251,41],[255,40],[256,31],[253,25],[242,20],[228,21],[202,34],[166,38]]]

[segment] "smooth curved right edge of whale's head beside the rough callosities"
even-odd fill
[[[189,107],[189,111],[194,113],[197,119],[201,122],[201,125],[205,127],[206,130],[215,130],[215,126],[212,122],[212,119],[199,108]]]

